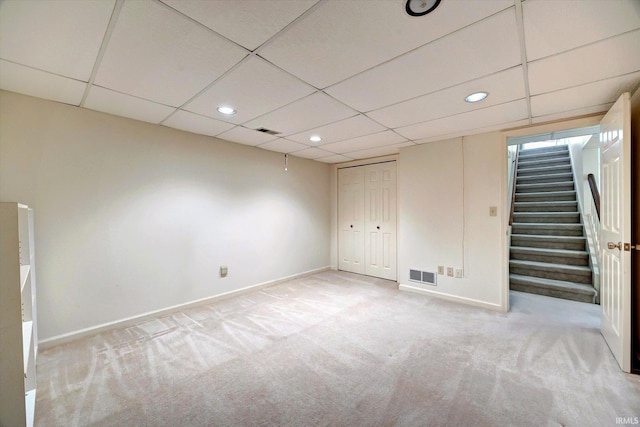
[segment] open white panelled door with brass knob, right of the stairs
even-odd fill
[[[600,122],[601,331],[631,370],[631,102],[624,93]]]

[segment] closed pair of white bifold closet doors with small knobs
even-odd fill
[[[396,280],[396,163],[338,170],[338,269]]]

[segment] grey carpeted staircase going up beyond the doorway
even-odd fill
[[[594,303],[568,147],[521,150],[515,185],[510,288]]]

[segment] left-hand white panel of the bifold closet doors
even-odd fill
[[[364,274],[364,168],[338,170],[338,269]]]

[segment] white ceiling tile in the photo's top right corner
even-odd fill
[[[530,0],[522,5],[529,61],[640,28],[637,0]]]

